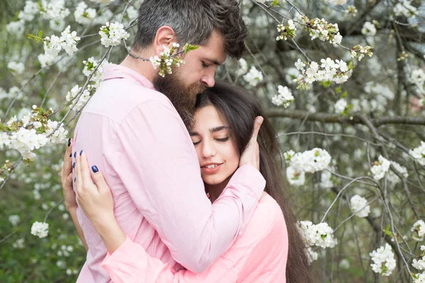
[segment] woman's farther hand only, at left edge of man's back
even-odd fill
[[[77,209],[77,200],[75,200],[75,192],[72,190],[72,139],[68,140],[67,151],[64,155],[64,164],[60,171],[60,180],[62,183],[62,192],[65,199],[65,207],[68,212]]]

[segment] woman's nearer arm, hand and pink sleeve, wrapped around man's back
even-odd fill
[[[233,262],[222,257],[204,272],[196,274],[188,270],[176,272],[171,265],[149,256],[145,248],[132,242],[118,225],[113,214],[111,189],[101,171],[92,167],[90,172],[84,153],[81,156],[77,154],[76,163],[77,198],[81,209],[108,248],[109,253],[103,261],[103,267],[114,283],[237,281]]]

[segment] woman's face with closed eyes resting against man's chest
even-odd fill
[[[229,125],[215,107],[196,111],[191,139],[198,154],[200,174],[208,185],[220,185],[236,171],[239,156],[230,137]]]

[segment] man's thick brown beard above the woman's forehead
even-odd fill
[[[196,95],[205,91],[206,86],[202,83],[184,86],[181,77],[177,70],[174,70],[173,75],[155,76],[154,88],[160,93],[169,98],[179,113],[181,120],[188,129],[193,126],[193,111],[195,110]]]

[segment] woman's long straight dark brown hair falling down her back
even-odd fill
[[[278,156],[280,157],[276,132],[270,121],[265,117],[259,100],[243,88],[217,82],[214,87],[198,95],[196,109],[207,105],[213,105],[217,112],[222,115],[222,118],[229,123],[230,135],[239,152],[239,156],[251,138],[255,117],[264,117],[257,139],[260,149],[260,171],[266,179],[266,192],[278,202],[285,217],[289,241],[286,282],[313,282],[312,272],[305,254],[305,243],[297,229],[296,218],[290,206],[286,183],[280,173],[282,162],[280,162],[280,166],[276,162]]]

